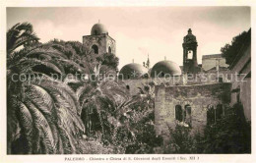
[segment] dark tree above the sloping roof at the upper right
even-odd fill
[[[232,38],[231,44],[226,43],[224,47],[222,47],[221,52],[224,55],[225,63],[227,65],[230,65],[233,62],[239,50],[246,42],[248,34],[250,37],[250,32],[243,31]]]

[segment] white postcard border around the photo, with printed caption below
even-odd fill
[[[255,31],[254,27],[256,25],[256,5],[255,1],[242,1],[242,0],[197,0],[197,1],[188,1],[188,0],[175,0],[175,1],[155,1],[155,0],[6,0],[0,1],[0,99],[1,99],[1,108],[0,108],[0,162],[64,162],[66,157],[79,158],[84,157],[89,159],[90,157],[101,157],[101,158],[110,158],[110,157],[187,157],[195,156],[199,157],[197,161],[191,162],[253,162],[256,160],[255,153],[255,121],[253,115],[256,115],[255,101],[252,100],[251,105],[251,120],[252,120],[252,153],[251,154],[144,154],[144,155],[7,155],[6,154],[6,7],[89,7],[89,6],[251,6],[251,27],[252,27],[252,85],[251,90],[255,90]],[[252,91],[252,99],[255,98],[255,91]],[[65,162],[120,162],[120,161],[65,161]],[[181,162],[181,161],[122,161],[122,162]],[[189,162],[189,161],[182,161]]]

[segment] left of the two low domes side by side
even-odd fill
[[[140,79],[148,76],[148,70],[140,64],[127,64],[120,70],[119,78],[124,80]]]

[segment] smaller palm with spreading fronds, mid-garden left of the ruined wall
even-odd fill
[[[82,119],[87,135],[96,132],[94,130],[100,130],[104,135],[105,130],[121,125],[121,115],[129,112],[128,106],[134,102],[125,84],[109,79],[99,81],[96,86],[85,84],[77,90],[77,94],[83,108]]]

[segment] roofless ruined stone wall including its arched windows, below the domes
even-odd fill
[[[156,85],[155,125],[157,135],[168,137],[176,125],[203,132],[207,124],[224,116],[230,102],[231,83]]]

